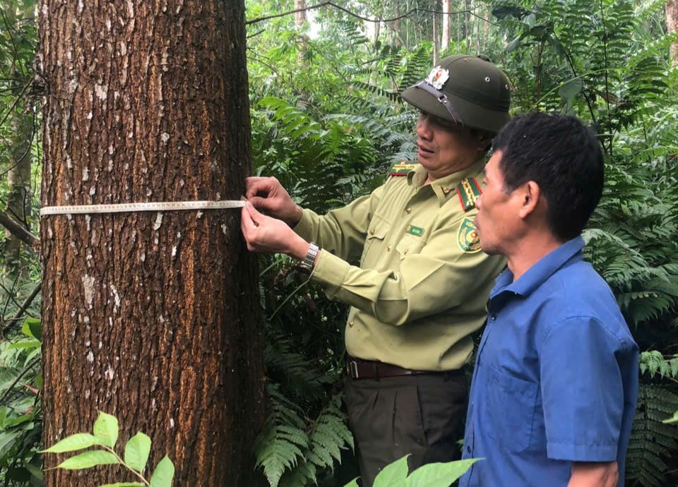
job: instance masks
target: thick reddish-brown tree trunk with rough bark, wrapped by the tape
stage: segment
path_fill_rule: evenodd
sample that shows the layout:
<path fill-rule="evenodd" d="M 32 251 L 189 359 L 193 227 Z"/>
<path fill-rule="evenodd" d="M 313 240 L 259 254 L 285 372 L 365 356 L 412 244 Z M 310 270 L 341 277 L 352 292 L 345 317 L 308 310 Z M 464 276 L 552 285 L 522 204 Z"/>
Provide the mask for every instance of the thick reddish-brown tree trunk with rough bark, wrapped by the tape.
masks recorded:
<path fill-rule="evenodd" d="M 242 0 L 42 0 L 42 205 L 237 199 L 250 169 Z M 256 485 L 256 261 L 238 210 L 43 217 L 44 443 L 97 410 L 175 487 Z M 44 467 L 59 459 L 47 455 Z M 86 485 L 121 478 L 97 469 Z M 46 470 L 44 485 L 85 485 Z"/>

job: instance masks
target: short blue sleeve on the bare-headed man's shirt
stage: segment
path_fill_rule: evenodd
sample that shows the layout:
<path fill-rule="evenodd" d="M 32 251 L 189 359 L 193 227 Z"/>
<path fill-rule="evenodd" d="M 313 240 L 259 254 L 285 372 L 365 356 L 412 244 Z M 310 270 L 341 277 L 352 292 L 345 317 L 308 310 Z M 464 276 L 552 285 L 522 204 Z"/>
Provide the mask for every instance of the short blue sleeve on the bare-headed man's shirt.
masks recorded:
<path fill-rule="evenodd" d="M 550 459 L 617 459 L 624 386 L 619 338 L 595 318 L 569 318 L 547 331 L 540 350 L 541 392 Z"/>

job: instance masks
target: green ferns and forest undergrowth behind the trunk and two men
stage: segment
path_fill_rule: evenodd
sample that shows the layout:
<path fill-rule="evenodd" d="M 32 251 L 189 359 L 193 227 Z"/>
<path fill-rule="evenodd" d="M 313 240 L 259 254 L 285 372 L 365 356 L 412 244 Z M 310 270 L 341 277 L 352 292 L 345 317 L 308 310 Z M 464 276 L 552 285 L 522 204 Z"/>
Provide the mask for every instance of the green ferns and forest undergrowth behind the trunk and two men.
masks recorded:
<path fill-rule="evenodd" d="M 407 8 L 405 8 L 405 3 Z M 40 85 L 35 2 L 0 16 L 0 204 L 37 234 Z M 629 486 L 678 484 L 678 70 L 665 1 L 453 1 L 444 48 L 432 0 L 347 1 L 295 25 L 291 0 L 248 0 L 249 97 L 256 174 L 275 176 L 316 212 L 350 202 L 415 158 L 417 113 L 399 93 L 434 52 L 485 54 L 511 80 L 511 113 L 573 114 L 599 134 L 605 194 L 585 257 L 612 287 L 641 348 Z M 413 10 L 412 10 L 413 9 Z M 37 76 L 39 78 L 39 76 Z M 18 183 L 10 170 L 28 160 Z M 25 211 L 17 215 L 16 201 Z M 13 209 L 14 208 L 14 209 Z M 0 486 L 40 486 L 40 265 L 30 245 L 0 248 Z M 30 239 L 29 239 L 30 240 Z M 271 487 L 343 486 L 355 476 L 341 406 L 347 308 L 284 255 L 261 257 L 269 413 L 255 445 Z"/>

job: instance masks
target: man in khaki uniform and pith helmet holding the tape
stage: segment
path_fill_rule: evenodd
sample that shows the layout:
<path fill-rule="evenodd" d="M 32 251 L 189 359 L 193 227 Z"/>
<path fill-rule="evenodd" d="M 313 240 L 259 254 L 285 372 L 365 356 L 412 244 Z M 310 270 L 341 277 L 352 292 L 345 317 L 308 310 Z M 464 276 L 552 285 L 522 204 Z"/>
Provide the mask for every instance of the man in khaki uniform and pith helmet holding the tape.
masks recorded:
<path fill-rule="evenodd" d="M 509 120 L 506 76 L 486 58 L 450 56 L 403 99 L 421 111 L 419 164 L 396 164 L 383 186 L 324 216 L 276 179 L 248 178 L 242 212 L 250 250 L 302 260 L 351 306 L 345 399 L 363 487 L 403 455 L 410 469 L 458 457 L 460 369 L 504 267 L 480 250 L 473 218 L 484 154 Z"/>

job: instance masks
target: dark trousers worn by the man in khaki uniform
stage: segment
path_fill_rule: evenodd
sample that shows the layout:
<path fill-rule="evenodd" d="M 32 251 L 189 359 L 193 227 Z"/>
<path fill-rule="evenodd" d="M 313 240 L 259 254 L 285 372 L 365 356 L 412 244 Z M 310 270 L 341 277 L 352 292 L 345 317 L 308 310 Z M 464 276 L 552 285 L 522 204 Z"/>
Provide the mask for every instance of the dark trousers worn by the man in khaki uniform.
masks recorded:
<path fill-rule="evenodd" d="M 380 379 L 346 378 L 348 423 L 355 438 L 362 487 L 410 454 L 410 472 L 461 456 L 466 378 L 458 371 Z"/>

